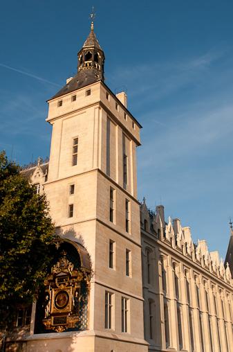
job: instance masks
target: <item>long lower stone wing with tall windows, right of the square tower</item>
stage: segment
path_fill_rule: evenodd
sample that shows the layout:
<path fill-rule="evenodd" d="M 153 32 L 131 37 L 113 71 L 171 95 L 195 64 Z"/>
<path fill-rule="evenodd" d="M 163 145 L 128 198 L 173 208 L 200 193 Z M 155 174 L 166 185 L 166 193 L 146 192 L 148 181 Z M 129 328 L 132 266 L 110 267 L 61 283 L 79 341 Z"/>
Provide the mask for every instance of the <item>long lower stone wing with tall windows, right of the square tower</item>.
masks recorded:
<path fill-rule="evenodd" d="M 232 351 L 232 275 L 205 240 L 195 245 L 164 207 L 140 211 L 145 339 L 149 351 Z"/>

